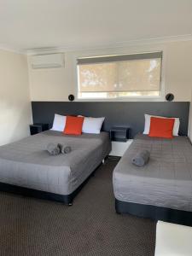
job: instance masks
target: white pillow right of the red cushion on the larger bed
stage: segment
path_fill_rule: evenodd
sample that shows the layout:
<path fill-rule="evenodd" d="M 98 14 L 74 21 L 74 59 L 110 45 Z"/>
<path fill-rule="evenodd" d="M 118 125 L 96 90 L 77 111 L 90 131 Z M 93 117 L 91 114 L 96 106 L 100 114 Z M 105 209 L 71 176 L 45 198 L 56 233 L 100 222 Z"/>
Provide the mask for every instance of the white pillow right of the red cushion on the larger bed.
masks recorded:
<path fill-rule="evenodd" d="M 84 117 L 84 124 L 82 127 L 82 131 L 84 133 L 99 134 L 102 129 L 102 123 L 104 119 L 105 119 L 104 117 L 102 118 Z"/>

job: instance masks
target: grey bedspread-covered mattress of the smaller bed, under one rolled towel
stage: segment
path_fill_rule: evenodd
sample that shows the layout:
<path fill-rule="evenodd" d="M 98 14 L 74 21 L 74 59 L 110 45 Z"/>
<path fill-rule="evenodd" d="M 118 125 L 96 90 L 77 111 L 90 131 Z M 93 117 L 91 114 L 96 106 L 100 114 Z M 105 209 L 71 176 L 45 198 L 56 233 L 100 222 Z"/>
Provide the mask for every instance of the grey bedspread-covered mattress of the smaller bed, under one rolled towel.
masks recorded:
<path fill-rule="evenodd" d="M 131 164 L 148 149 L 146 166 Z M 138 135 L 113 171 L 113 192 L 119 201 L 192 212 L 192 145 L 188 137 L 172 140 Z"/>

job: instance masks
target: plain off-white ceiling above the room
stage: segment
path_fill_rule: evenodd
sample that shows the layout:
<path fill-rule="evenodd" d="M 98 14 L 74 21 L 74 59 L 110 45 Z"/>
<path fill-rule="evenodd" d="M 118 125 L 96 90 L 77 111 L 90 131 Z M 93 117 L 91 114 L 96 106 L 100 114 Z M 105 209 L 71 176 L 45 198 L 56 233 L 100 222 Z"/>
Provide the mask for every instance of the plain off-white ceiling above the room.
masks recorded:
<path fill-rule="evenodd" d="M 192 0 L 0 0 L 0 46 L 92 48 L 192 35 Z"/>

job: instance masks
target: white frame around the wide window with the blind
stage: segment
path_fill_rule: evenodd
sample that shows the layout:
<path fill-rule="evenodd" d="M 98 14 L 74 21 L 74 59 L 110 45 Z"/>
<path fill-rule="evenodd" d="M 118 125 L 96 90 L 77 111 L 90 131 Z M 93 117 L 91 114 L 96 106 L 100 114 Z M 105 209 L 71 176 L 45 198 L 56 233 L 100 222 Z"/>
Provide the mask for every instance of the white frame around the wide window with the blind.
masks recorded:
<path fill-rule="evenodd" d="M 148 54 L 154 52 L 162 52 L 162 59 L 161 59 L 161 72 L 160 72 L 160 95 L 159 96 L 118 96 L 116 98 L 82 98 L 79 97 L 79 68 L 77 65 L 77 61 L 80 58 L 84 57 L 93 57 L 93 56 L 100 56 L 100 55 L 137 55 L 137 54 Z M 84 53 L 79 53 L 73 55 L 73 65 L 74 65 L 74 79 L 75 79 L 75 100 L 76 102 L 164 102 L 165 101 L 165 67 L 166 67 L 166 49 L 165 47 L 160 48 L 151 48 L 145 50 L 118 50 L 118 51 L 108 51 L 106 49 L 102 50 L 95 50 L 95 51 L 88 51 Z"/>

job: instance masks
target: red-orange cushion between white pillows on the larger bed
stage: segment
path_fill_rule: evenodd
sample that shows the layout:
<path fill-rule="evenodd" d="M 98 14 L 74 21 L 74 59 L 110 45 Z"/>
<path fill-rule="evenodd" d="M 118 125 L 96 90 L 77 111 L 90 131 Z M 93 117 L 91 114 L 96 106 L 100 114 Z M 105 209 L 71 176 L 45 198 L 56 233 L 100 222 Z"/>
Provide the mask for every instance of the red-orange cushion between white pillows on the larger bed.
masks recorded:
<path fill-rule="evenodd" d="M 67 115 L 64 134 L 81 135 L 84 117 Z"/>

